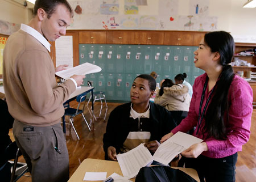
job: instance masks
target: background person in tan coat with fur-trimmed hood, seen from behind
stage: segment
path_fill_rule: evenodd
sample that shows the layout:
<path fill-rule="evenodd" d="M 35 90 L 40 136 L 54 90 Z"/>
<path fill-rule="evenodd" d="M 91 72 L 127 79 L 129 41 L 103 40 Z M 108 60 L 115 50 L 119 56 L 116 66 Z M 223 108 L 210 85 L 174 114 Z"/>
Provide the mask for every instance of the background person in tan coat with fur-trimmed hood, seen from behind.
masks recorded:
<path fill-rule="evenodd" d="M 187 117 L 191 96 L 188 87 L 183 84 L 174 84 L 171 79 L 161 81 L 159 92 L 155 96 L 155 103 L 171 111 L 177 125 Z"/>

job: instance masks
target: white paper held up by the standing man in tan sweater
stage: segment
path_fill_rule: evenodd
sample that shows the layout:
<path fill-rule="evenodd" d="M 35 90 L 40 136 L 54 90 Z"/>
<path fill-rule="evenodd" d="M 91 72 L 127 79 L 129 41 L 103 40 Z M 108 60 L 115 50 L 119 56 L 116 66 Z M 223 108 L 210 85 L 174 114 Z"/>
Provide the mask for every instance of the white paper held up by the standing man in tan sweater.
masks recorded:
<path fill-rule="evenodd" d="M 90 73 L 98 73 L 101 71 L 101 67 L 97 65 L 85 62 L 82 65 L 71 67 L 67 70 L 58 71 L 55 74 L 61 78 L 69 79 L 72 75 L 86 75 Z"/>

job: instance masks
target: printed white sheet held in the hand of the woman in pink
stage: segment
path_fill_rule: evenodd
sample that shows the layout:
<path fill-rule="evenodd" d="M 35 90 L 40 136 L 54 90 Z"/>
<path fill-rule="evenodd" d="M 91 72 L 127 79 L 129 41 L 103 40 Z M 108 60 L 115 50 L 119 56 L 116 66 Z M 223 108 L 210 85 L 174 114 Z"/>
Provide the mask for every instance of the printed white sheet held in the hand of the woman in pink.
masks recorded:
<path fill-rule="evenodd" d="M 158 147 L 153 155 L 153 160 L 167 165 L 177 154 L 202 141 L 203 139 L 196 138 L 190 134 L 177 132 Z"/>

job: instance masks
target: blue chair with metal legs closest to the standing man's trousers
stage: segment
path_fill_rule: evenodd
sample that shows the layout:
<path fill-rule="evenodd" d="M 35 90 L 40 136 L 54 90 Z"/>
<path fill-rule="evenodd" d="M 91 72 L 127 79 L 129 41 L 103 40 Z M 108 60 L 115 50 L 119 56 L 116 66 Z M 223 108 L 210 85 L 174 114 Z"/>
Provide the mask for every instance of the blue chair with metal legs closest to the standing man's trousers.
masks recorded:
<path fill-rule="evenodd" d="M 70 123 L 71 123 L 71 125 L 72 125 L 72 128 L 75 130 L 75 133 L 76 133 L 77 138 L 80 139 L 80 138 L 79 138 L 79 135 L 78 135 L 77 132 L 76 132 L 75 126 L 74 126 L 73 117 L 75 117 L 75 116 L 81 114 L 82 117 L 84 118 L 84 121 L 85 121 L 86 125 L 87 125 L 88 128 L 89 128 L 89 131 L 90 131 L 90 126 L 89 126 L 88 122 L 86 121 L 86 119 L 85 119 L 85 117 L 84 117 L 84 107 L 85 107 L 85 101 L 86 101 L 86 93 L 82 93 L 82 94 L 78 95 L 78 96 L 76 97 L 76 101 L 79 103 L 79 104 L 77 105 L 77 108 L 71 108 L 71 107 L 69 107 L 69 103 L 68 103 L 67 105 L 65 105 L 65 114 L 64 114 L 64 117 L 65 117 L 65 115 L 69 116 L 69 121 L 70 121 Z M 79 107 L 80 107 L 81 104 L 84 104 L 84 105 L 83 105 L 82 109 L 79 109 Z"/>

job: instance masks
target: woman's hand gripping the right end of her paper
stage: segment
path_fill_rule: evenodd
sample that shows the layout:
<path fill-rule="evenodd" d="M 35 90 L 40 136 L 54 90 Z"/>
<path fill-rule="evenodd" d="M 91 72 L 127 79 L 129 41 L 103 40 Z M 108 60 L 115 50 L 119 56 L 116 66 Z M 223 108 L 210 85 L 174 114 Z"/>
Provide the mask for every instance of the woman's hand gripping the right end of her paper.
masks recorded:
<path fill-rule="evenodd" d="M 207 151 L 208 146 L 207 143 L 196 143 L 189 147 L 187 150 L 184 150 L 181 155 L 185 156 L 186 158 L 197 158 L 203 151 Z"/>

